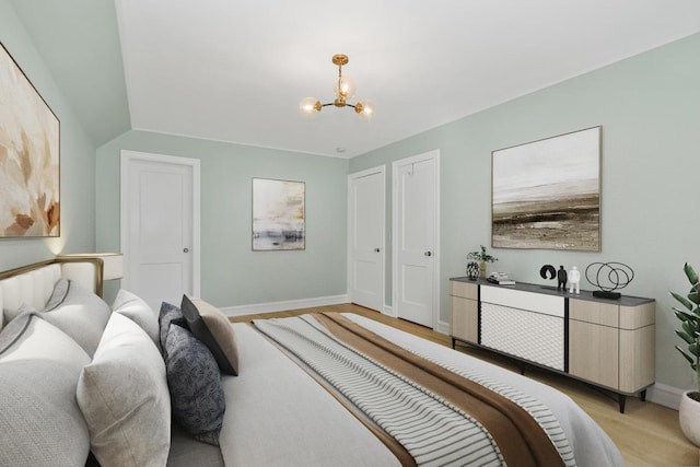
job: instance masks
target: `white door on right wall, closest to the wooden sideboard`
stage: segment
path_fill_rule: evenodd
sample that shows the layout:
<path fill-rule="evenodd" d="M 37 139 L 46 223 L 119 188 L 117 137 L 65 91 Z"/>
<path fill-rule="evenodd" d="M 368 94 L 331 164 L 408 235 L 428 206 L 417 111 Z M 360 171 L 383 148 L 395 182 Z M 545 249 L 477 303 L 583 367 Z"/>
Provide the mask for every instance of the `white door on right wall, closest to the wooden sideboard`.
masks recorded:
<path fill-rule="evenodd" d="M 439 295 L 440 153 L 393 164 L 394 303 L 396 315 L 434 328 Z"/>

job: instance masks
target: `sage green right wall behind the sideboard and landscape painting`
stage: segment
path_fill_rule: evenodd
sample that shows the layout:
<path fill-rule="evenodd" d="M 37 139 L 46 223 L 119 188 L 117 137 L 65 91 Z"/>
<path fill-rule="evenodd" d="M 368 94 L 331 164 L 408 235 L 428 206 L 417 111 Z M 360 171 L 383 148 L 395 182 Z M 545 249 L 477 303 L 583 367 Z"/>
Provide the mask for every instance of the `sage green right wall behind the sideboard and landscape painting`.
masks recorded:
<path fill-rule="evenodd" d="M 698 57 L 695 35 L 351 160 L 351 173 L 387 165 L 390 240 L 392 161 L 440 150 L 442 320 L 448 320 L 448 278 L 464 276 L 467 252 L 491 244 L 491 151 L 602 125 L 602 252 L 498 248 L 494 268 L 541 283 L 544 264 L 630 265 L 635 277 L 625 293 L 657 301 L 657 381 L 692 387 L 674 349 L 668 290 L 689 289 L 685 261 L 700 268 Z"/>

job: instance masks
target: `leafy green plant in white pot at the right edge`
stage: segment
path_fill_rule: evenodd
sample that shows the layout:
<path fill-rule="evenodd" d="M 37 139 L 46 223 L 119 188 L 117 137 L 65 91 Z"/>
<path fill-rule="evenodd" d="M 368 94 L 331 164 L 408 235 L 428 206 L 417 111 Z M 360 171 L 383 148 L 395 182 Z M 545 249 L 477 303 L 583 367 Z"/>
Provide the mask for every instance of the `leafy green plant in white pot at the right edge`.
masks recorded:
<path fill-rule="evenodd" d="M 680 329 L 676 329 L 676 336 L 685 342 L 685 349 L 676 346 L 680 354 L 690 363 L 696 372 L 696 389 L 686 390 L 680 396 L 678 420 L 680 429 L 688 440 L 696 446 L 700 446 L 700 290 L 698 287 L 698 273 L 687 262 L 684 271 L 690 282 L 690 291 L 686 296 L 676 292 L 669 292 L 682 307 L 673 307 L 674 315 L 680 320 Z"/>

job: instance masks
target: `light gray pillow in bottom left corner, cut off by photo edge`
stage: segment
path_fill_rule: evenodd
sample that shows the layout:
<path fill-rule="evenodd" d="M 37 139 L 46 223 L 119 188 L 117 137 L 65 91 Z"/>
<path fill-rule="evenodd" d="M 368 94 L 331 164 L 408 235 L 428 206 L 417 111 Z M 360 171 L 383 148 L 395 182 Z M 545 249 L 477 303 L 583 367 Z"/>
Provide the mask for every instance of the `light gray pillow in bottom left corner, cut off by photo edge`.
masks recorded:
<path fill-rule="evenodd" d="M 75 401 L 90 357 L 57 327 L 25 313 L 0 332 L 0 465 L 83 466 L 88 425 Z"/>

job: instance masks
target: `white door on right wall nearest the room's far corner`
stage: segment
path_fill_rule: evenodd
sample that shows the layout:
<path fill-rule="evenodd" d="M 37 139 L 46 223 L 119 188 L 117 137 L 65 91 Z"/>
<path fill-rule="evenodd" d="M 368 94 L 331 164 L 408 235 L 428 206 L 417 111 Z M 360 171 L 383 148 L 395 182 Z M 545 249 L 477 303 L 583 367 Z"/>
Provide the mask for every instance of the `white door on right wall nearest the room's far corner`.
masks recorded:
<path fill-rule="evenodd" d="M 348 176 L 350 301 L 384 308 L 384 166 Z"/>

